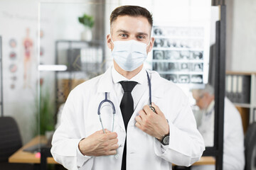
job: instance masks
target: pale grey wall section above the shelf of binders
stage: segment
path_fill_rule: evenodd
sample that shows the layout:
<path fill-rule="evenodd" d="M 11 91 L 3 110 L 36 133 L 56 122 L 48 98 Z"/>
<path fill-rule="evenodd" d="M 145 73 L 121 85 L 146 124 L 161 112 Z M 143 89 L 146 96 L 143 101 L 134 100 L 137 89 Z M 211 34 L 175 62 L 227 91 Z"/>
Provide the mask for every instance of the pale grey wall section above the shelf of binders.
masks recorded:
<path fill-rule="evenodd" d="M 227 69 L 256 72 L 256 1 L 227 0 Z M 230 29 L 231 28 L 231 29 Z"/>

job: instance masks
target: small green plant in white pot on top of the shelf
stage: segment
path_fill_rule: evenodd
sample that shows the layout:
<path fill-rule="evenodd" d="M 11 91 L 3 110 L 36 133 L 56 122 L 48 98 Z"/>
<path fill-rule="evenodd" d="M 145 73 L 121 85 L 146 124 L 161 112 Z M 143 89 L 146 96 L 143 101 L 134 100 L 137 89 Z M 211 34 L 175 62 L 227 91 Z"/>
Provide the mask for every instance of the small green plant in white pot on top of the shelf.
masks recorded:
<path fill-rule="evenodd" d="M 78 21 L 85 26 L 85 30 L 81 34 L 82 40 L 90 41 L 92 40 L 92 27 L 94 26 L 94 18 L 87 14 L 83 14 L 83 16 L 78 17 Z"/>

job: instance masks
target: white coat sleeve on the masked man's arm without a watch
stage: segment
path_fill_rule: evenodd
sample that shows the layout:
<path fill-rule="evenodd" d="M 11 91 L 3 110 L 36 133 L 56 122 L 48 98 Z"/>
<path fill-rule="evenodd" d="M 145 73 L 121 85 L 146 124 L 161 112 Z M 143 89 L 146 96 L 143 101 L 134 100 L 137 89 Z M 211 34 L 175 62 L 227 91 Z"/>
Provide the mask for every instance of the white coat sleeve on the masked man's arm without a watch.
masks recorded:
<path fill-rule="evenodd" d="M 50 150 L 56 162 L 62 164 L 66 169 L 79 169 L 88 162 L 90 157 L 81 154 L 78 143 L 82 139 L 78 110 L 75 108 L 74 91 L 70 92 L 63 108 L 60 126 L 55 130 Z"/>

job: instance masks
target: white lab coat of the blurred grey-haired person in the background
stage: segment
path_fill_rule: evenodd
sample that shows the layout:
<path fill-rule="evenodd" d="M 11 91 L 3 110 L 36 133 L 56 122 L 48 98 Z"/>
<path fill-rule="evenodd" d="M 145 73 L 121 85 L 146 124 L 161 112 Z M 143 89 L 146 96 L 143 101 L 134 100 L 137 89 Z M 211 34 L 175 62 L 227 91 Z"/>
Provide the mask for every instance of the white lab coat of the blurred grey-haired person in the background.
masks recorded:
<path fill-rule="evenodd" d="M 212 147 L 214 136 L 214 101 L 210 103 L 207 111 L 203 113 L 201 126 L 198 127 L 198 130 L 203 135 L 206 146 Z M 245 148 L 242 120 L 240 113 L 228 98 L 225 98 L 223 140 L 223 170 L 243 170 L 245 166 Z M 201 169 L 215 170 L 215 165 L 192 167 L 192 170 Z"/>

